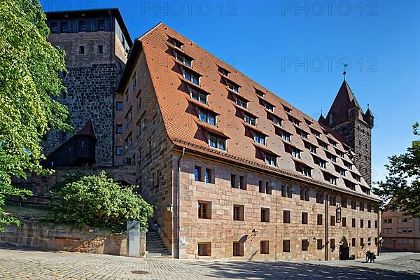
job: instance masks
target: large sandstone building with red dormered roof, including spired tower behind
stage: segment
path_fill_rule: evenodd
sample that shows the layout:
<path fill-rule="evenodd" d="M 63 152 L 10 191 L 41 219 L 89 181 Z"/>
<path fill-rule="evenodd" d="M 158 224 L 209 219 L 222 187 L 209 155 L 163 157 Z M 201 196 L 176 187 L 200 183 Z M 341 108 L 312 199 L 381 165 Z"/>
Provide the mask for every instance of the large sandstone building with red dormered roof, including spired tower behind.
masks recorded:
<path fill-rule="evenodd" d="M 116 108 L 115 162 L 137 167 L 152 229 L 175 258 L 332 260 L 376 248 L 373 116 L 346 81 L 318 122 L 160 23 L 134 41 Z"/>

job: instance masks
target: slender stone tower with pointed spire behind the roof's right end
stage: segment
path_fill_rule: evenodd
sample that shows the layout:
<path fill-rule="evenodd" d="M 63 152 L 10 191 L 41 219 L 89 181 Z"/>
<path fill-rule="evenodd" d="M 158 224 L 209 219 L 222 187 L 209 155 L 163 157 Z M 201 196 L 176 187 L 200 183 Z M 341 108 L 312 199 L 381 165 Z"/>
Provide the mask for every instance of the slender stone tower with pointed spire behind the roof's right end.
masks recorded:
<path fill-rule="evenodd" d="M 326 118 L 327 125 L 344 137 L 354 152 L 354 164 L 365 181 L 371 185 L 372 177 L 372 127 L 374 116 L 369 108 L 363 113 L 346 80 L 343 81 Z"/>

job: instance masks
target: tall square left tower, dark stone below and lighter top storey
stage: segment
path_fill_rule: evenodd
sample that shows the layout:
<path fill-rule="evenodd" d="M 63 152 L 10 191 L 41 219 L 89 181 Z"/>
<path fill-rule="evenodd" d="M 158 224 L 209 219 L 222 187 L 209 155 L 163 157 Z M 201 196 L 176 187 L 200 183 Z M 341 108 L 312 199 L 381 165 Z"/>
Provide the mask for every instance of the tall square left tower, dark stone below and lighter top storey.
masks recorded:
<path fill-rule="evenodd" d="M 67 10 L 46 15 L 51 31 L 48 41 L 66 51 L 67 72 L 62 74 L 62 78 L 67 92 L 57 99 L 68 106 L 74 132 L 89 123 L 97 141 L 93 159 L 72 161 L 71 153 L 83 147 L 68 148 L 66 142 L 74 135 L 51 131 L 43 143 L 44 153 L 47 158 L 50 157 L 45 162 L 51 165 L 54 162 L 55 167 L 85 164 L 111 166 L 114 153 L 114 92 L 132 47 L 132 39 L 120 10 Z M 66 160 L 51 159 L 53 154 L 66 153 L 69 155 Z"/>

